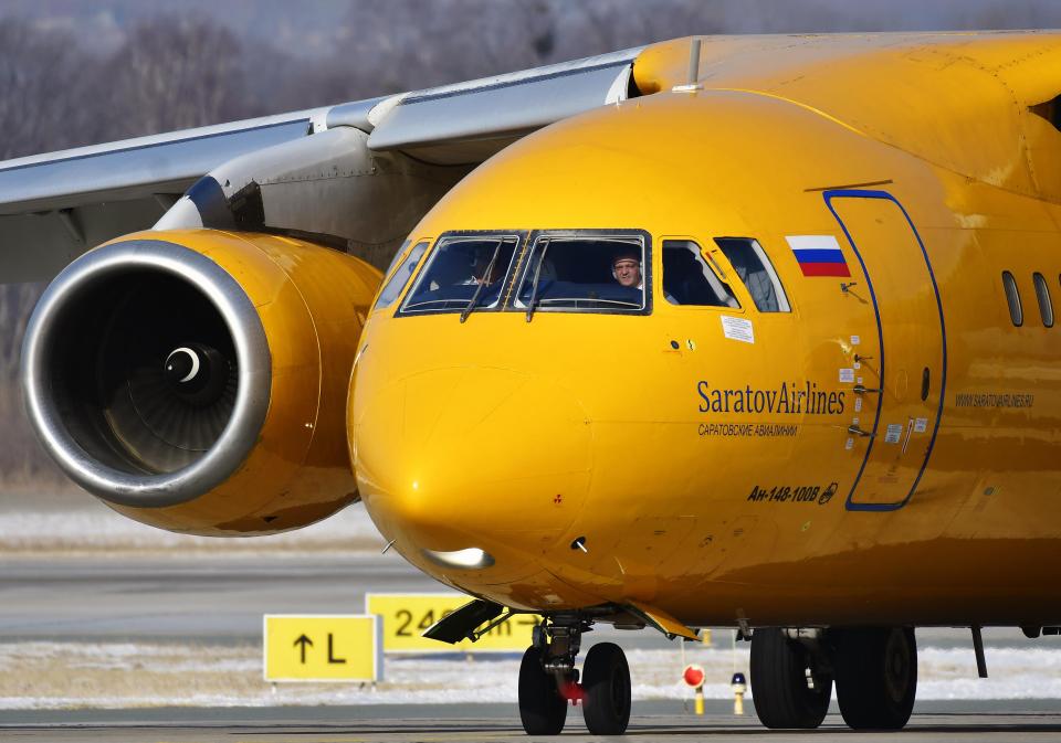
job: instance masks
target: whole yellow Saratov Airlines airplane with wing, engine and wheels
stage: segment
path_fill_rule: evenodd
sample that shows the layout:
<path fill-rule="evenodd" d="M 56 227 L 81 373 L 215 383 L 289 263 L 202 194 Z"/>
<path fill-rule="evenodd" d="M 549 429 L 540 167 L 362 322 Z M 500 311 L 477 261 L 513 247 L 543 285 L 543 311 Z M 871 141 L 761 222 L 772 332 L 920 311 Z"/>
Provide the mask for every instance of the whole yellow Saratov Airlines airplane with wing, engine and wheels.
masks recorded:
<path fill-rule="evenodd" d="M 836 686 L 900 729 L 914 627 L 986 675 L 981 626 L 1061 626 L 1059 71 L 1049 32 L 694 38 L 0 163 L 6 275 L 154 224 L 59 273 L 28 410 L 130 518 L 360 499 L 474 597 L 429 636 L 540 615 L 530 734 L 626 730 L 596 623 L 738 627 L 767 726 Z"/>

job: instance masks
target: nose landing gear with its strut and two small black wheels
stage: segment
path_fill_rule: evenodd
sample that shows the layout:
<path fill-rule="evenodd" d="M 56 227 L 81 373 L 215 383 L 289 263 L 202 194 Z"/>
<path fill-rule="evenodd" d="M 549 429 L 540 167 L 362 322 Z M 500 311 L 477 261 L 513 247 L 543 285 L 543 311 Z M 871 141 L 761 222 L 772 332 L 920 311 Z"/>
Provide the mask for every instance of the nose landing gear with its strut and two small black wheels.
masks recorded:
<path fill-rule="evenodd" d="M 535 628 L 534 645 L 519 665 L 519 719 L 529 735 L 558 735 L 567 703 L 581 701 L 591 735 L 621 735 L 630 722 L 630 668 L 622 648 L 600 643 L 590 648 L 582 683 L 575 669 L 581 635 L 591 624 L 554 617 Z"/>

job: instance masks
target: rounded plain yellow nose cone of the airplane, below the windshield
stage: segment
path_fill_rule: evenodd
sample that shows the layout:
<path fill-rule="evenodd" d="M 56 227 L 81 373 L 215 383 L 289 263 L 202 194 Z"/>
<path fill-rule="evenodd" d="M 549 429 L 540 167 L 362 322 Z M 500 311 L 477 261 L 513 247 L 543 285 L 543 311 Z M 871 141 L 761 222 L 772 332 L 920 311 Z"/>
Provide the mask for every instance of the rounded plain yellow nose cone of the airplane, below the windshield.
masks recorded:
<path fill-rule="evenodd" d="M 441 369 L 370 396 L 359 384 L 363 394 L 354 412 L 359 491 L 406 558 L 485 550 L 504 571 L 551 545 L 578 516 L 591 425 L 555 382 Z"/>

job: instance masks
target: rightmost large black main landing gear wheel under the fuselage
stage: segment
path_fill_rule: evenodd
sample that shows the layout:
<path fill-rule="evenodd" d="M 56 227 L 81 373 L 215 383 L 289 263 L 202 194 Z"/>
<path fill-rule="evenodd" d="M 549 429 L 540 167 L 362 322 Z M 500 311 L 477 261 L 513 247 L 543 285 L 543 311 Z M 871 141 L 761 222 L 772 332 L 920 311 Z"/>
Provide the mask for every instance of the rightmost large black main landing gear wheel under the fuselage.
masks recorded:
<path fill-rule="evenodd" d="M 855 730 L 900 730 L 917 693 L 917 643 L 910 627 L 836 630 L 837 701 Z"/>

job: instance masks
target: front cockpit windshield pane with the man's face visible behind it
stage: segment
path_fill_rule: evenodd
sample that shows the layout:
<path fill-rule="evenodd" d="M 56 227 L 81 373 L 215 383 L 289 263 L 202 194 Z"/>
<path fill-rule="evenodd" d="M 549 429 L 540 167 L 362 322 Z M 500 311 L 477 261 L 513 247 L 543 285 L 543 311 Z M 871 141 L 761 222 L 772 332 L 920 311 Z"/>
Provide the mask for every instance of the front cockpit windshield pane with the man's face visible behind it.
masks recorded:
<path fill-rule="evenodd" d="M 514 306 L 534 311 L 647 312 L 643 233 L 539 233 L 523 262 Z"/>

